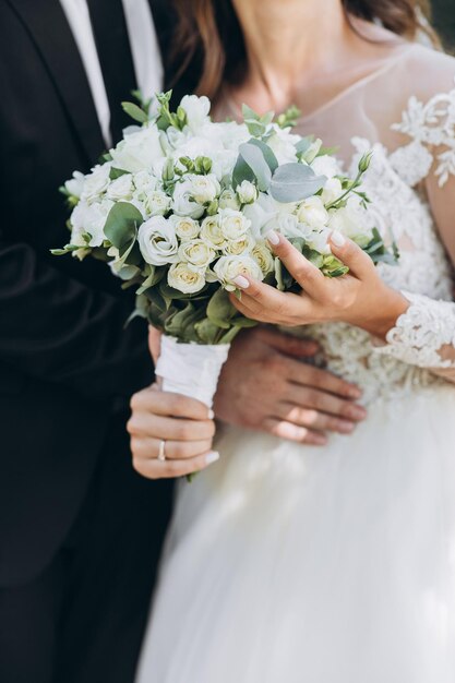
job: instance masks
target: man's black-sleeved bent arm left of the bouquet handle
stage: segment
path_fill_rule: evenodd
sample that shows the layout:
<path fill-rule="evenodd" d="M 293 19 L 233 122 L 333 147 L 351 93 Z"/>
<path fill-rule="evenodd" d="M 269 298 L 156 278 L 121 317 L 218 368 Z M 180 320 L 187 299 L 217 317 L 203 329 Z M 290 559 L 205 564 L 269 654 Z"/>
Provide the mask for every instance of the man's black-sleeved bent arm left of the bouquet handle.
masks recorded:
<path fill-rule="evenodd" d="M 0 360 L 92 398 L 131 395 L 153 368 L 130 299 L 72 279 L 28 244 L 0 241 Z"/>

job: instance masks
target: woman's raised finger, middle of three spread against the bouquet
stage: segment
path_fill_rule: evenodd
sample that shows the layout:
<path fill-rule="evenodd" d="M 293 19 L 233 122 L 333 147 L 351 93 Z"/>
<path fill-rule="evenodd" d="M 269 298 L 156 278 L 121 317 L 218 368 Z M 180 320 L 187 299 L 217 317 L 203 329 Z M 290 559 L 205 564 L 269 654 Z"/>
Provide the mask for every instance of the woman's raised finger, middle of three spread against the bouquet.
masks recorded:
<path fill-rule="evenodd" d="M 278 256 L 302 289 L 311 297 L 321 299 L 327 286 L 327 279 L 321 271 L 292 247 L 283 235 L 271 230 L 266 238 L 275 255 Z"/>

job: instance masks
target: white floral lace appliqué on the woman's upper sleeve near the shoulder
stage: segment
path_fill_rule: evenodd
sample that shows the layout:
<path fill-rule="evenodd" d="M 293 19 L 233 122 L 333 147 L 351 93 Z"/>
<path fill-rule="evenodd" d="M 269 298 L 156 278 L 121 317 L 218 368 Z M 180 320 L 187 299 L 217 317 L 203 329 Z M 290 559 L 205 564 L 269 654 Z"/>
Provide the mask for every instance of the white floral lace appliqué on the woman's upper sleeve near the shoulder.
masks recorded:
<path fill-rule="evenodd" d="M 409 151 L 411 157 L 406 159 L 408 168 L 412 168 L 412 157 L 414 160 L 418 159 L 421 177 L 417 179 L 416 169 L 411 178 L 412 184 L 422 180 L 430 170 L 428 151 L 426 151 L 427 154 L 421 152 L 426 149 L 424 145 L 443 147 L 443 151 L 435 157 L 438 160 L 435 173 L 439 177 L 440 187 L 442 188 L 447 182 L 451 175 L 455 176 L 455 89 L 435 95 L 427 104 L 412 96 L 407 110 L 403 113 L 402 121 L 394 123 L 392 130 L 405 133 L 415 141 L 414 145 L 411 143 L 407 147 L 402 147 L 396 156 L 399 167 L 404 166 L 405 151 Z"/>

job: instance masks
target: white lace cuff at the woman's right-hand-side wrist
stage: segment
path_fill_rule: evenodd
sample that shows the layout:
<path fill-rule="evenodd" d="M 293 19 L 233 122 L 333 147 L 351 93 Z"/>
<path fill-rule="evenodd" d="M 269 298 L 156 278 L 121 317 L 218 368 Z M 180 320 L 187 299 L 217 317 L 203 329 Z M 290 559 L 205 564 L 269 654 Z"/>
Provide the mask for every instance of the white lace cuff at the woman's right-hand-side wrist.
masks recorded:
<path fill-rule="evenodd" d="M 376 352 L 420 368 L 455 368 L 455 355 L 453 360 L 441 357 L 443 347 L 455 349 L 455 303 L 403 293 L 410 307 L 387 333 L 387 345 L 376 347 Z"/>

